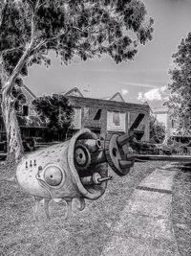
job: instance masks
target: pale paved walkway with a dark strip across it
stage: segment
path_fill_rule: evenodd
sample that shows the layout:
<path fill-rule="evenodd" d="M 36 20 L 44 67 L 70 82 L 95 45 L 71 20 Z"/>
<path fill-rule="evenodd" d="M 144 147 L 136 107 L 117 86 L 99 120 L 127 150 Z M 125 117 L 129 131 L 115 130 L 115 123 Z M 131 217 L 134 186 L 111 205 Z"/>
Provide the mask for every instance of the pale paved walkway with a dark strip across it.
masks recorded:
<path fill-rule="evenodd" d="M 121 212 L 102 256 L 180 255 L 171 222 L 173 177 L 168 165 L 146 177 Z"/>

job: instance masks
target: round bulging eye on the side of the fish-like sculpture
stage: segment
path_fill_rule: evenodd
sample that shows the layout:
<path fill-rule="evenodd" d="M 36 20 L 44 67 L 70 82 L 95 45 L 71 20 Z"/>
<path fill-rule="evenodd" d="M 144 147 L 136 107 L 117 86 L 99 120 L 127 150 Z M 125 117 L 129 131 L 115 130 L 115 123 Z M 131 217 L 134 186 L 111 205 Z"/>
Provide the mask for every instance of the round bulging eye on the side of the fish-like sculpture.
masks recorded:
<path fill-rule="evenodd" d="M 58 186 L 62 182 L 63 174 L 59 168 L 51 166 L 45 170 L 44 178 L 50 186 Z"/>

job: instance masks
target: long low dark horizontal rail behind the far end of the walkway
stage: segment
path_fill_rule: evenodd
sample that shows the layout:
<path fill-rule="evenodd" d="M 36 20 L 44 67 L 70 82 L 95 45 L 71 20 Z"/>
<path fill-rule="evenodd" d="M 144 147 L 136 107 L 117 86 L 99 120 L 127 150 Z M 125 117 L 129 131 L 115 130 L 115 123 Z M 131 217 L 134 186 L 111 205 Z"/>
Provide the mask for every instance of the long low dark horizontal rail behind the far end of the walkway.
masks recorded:
<path fill-rule="evenodd" d="M 146 161 L 169 161 L 169 162 L 190 162 L 191 155 L 153 155 L 153 154 L 127 154 L 127 160 L 146 160 Z"/>

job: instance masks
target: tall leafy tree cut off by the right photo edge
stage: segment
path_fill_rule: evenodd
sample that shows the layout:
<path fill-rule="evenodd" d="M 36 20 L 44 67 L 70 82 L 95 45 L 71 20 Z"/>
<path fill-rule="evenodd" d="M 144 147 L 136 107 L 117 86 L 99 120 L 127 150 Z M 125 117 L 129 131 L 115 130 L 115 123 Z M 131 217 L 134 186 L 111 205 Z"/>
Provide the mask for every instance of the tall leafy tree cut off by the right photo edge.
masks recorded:
<path fill-rule="evenodd" d="M 165 105 L 170 109 L 171 118 L 176 120 L 177 130 L 191 135 L 191 33 L 181 39 L 172 58 L 174 67 L 169 70 L 171 82 L 168 84 L 170 96 Z"/>

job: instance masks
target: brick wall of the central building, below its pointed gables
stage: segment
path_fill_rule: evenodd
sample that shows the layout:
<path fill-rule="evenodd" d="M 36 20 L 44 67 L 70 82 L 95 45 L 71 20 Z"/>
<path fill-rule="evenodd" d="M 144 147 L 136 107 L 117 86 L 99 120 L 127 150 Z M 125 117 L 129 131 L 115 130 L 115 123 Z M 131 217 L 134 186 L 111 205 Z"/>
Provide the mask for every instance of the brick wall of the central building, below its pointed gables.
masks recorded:
<path fill-rule="evenodd" d="M 68 97 L 75 108 L 81 109 L 81 119 L 78 118 L 78 127 L 74 128 L 78 129 L 80 122 L 81 128 L 90 128 L 100 133 L 101 136 L 104 136 L 109 131 L 127 132 L 138 116 L 138 113 L 143 113 L 145 117 L 138 130 L 144 131 L 142 140 L 149 140 L 150 107 L 148 105 L 119 103 L 73 96 Z M 115 121 L 117 115 L 119 116 L 119 124 Z"/>

